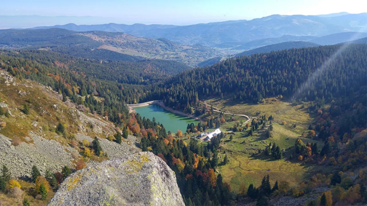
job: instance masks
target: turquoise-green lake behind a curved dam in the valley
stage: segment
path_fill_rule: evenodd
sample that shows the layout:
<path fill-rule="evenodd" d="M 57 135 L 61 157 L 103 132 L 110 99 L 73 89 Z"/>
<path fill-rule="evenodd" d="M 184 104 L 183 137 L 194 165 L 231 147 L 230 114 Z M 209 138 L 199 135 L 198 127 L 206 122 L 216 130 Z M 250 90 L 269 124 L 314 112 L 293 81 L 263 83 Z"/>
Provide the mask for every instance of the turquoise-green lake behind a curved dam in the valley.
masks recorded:
<path fill-rule="evenodd" d="M 136 110 L 141 117 L 150 119 L 150 121 L 152 121 L 153 117 L 155 117 L 156 122 L 163 124 L 167 132 L 171 131 L 172 133 L 176 133 L 179 129 L 185 133 L 187 124 L 191 124 L 191 122 L 193 122 L 195 125 L 197 125 L 199 123 L 199 121 L 193 118 L 167 111 L 157 104 L 152 104 L 145 107 L 135 107 L 134 110 Z"/>

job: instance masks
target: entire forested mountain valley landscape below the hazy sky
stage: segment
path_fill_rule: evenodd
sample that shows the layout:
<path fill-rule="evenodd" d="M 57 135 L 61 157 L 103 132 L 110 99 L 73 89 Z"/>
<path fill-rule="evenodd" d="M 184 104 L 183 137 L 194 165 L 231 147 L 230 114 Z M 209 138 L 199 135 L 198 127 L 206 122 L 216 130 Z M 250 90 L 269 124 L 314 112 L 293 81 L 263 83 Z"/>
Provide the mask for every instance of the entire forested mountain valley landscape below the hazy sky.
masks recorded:
<path fill-rule="evenodd" d="M 0 30 L 0 205 L 363 205 L 365 15 Z"/>

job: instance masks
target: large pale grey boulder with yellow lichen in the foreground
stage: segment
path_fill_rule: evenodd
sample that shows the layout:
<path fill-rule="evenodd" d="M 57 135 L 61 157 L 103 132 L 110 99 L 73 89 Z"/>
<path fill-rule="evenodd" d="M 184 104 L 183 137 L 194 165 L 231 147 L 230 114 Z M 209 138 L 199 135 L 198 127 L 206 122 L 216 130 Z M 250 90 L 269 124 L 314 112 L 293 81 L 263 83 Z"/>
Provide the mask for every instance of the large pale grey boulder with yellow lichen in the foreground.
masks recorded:
<path fill-rule="evenodd" d="M 174 172 L 152 152 L 104 161 L 70 175 L 54 205 L 184 205 Z"/>

